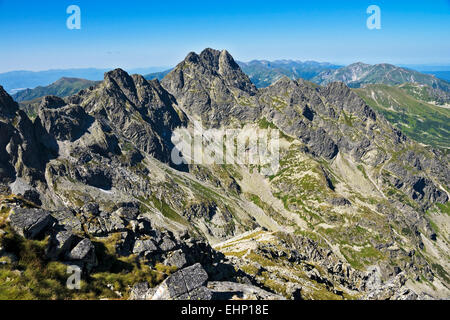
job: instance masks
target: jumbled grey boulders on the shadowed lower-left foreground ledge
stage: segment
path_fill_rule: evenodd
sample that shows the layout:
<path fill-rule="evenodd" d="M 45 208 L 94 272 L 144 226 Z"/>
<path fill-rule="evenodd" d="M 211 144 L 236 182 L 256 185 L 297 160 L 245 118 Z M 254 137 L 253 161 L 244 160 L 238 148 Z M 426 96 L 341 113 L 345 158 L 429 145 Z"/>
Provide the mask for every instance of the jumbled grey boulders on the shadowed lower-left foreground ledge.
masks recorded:
<path fill-rule="evenodd" d="M 77 266 L 82 270 L 83 277 L 95 274 L 96 269 L 104 265 L 105 261 L 99 257 L 98 249 L 94 245 L 101 237 L 83 232 L 89 230 L 93 220 L 105 221 L 95 208 L 88 207 L 81 216 L 76 216 L 70 210 L 49 212 L 27 208 L 28 204 L 15 199 L 8 205 L 2 205 L 3 212 L 7 209 L 9 211 L 6 223 L 10 227 L 8 231 L 2 231 L 2 237 L 10 233 L 29 241 L 46 239 L 45 256 L 41 259 Z M 130 218 L 132 211 L 122 207 L 113 217 L 106 219 L 110 224 L 100 226 L 100 229 L 104 228 L 102 230 L 105 234 L 115 235 L 116 252 L 150 266 L 162 264 L 178 271 L 158 286 L 151 287 L 148 282 L 136 283 L 129 288 L 129 299 L 284 299 L 280 295 L 253 286 L 248 275 L 239 275 L 226 261 L 225 256 L 211 248 L 208 243 L 193 239 L 188 234 L 174 235 L 170 231 L 153 229 L 146 219 Z M 111 221 L 116 224 L 111 224 Z M 18 260 L 14 253 L 8 252 L 7 247 L 0 247 L 0 258 L 2 265 L 14 265 Z M 205 269 L 209 270 L 209 273 Z M 218 279 L 233 279 L 244 283 L 210 281 Z M 122 293 L 116 293 L 118 298 L 123 297 Z"/>

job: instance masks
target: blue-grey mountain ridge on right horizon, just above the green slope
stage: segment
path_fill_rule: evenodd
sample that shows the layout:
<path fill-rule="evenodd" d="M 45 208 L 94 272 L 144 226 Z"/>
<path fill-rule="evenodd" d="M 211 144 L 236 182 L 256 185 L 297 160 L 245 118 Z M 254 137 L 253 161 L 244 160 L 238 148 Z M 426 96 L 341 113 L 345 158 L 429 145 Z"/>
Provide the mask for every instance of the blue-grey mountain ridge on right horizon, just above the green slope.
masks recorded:
<path fill-rule="evenodd" d="M 360 62 L 354 63 L 338 70 L 324 71 L 314 77 L 312 81 L 322 85 L 342 81 L 352 88 L 359 88 L 365 84 L 399 85 L 410 82 L 450 92 L 450 83 L 444 80 L 390 64 L 369 65 Z"/>

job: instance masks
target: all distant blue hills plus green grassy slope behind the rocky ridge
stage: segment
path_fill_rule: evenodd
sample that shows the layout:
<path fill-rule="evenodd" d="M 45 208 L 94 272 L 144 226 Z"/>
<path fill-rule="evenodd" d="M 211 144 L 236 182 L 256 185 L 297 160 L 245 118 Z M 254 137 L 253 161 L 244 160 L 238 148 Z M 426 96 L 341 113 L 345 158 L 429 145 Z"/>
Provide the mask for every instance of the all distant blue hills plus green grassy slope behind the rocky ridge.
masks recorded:
<path fill-rule="evenodd" d="M 330 63 L 293 60 L 254 60 L 237 64 L 259 88 L 268 87 L 283 77 L 291 80 L 309 79 L 320 85 L 344 82 L 357 89 L 356 92 L 368 105 L 381 112 L 409 137 L 438 148 L 450 147 L 450 141 L 446 138 L 450 131 L 450 109 L 441 108 L 448 108 L 450 105 L 450 84 L 434 75 L 390 64 L 355 63 L 339 67 Z M 147 80 L 162 81 L 172 70 L 153 72 L 144 77 Z M 103 70 L 91 69 L 84 72 L 95 77 L 95 72 L 100 71 Z M 97 84 L 98 81 L 63 77 L 48 86 L 19 91 L 12 97 L 34 118 L 42 97 L 53 95 L 64 98 Z"/>

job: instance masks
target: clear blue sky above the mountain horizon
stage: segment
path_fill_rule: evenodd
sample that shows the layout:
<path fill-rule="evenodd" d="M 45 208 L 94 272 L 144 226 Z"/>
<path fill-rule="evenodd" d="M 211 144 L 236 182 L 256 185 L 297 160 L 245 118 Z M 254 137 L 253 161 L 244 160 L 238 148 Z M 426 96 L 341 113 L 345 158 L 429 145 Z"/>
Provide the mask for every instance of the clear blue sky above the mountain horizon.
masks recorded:
<path fill-rule="evenodd" d="M 69 5 L 81 30 L 66 27 Z M 369 5 L 381 30 L 369 30 Z M 0 72 L 172 66 L 190 51 L 238 60 L 450 65 L 450 0 L 0 0 Z"/>

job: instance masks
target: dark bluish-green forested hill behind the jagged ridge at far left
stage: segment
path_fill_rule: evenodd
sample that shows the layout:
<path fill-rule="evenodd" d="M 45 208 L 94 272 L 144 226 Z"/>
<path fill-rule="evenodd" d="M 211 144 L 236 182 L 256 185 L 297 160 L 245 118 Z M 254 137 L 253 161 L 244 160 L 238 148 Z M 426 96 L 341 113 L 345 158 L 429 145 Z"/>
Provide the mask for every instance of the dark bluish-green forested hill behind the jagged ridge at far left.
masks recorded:
<path fill-rule="evenodd" d="M 61 78 L 46 87 L 25 89 L 12 95 L 17 102 L 30 101 L 44 96 L 57 96 L 60 98 L 71 96 L 78 91 L 95 86 L 98 82 L 79 78 Z"/>

